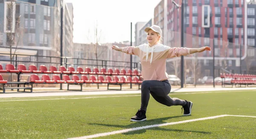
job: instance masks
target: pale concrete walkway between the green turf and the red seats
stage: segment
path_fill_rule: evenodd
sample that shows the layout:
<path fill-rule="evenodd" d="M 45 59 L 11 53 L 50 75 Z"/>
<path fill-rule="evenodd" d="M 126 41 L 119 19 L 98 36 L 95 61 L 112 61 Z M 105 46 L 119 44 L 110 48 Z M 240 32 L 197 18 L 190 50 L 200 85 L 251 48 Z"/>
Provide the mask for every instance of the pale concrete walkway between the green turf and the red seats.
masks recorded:
<path fill-rule="evenodd" d="M 50 88 L 44 88 L 44 90 L 48 90 Z M 136 94 L 140 93 L 138 89 L 124 89 L 120 90 L 84 90 L 80 91 L 67 91 L 67 90 L 52 90 L 52 91 L 44 91 L 43 92 L 35 92 L 35 93 L 1 93 L 0 98 L 16 98 L 16 97 L 40 97 L 40 96 L 79 96 L 79 95 L 108 95 L 108 94 Z M 256 90 L 256 87 L 190 87 L 190 88 L 172 88 L 171 92 L 204 92 L 204 91 L 227 91 L 227 90 Z"/>

